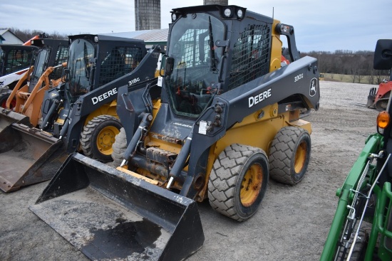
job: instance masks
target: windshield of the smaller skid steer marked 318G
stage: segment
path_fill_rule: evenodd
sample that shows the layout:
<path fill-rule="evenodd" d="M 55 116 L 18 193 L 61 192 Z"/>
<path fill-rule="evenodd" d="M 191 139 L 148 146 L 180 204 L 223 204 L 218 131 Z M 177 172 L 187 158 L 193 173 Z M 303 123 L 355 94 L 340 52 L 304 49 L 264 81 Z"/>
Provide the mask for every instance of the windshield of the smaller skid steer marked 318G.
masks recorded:
<path fill-rule="evenodd" d="M 69 91 L 73 100 L 90 90 L 91 63 L 94 56 L 94 46 L 84 39 L 71 43 L 69 48 Z"/>

